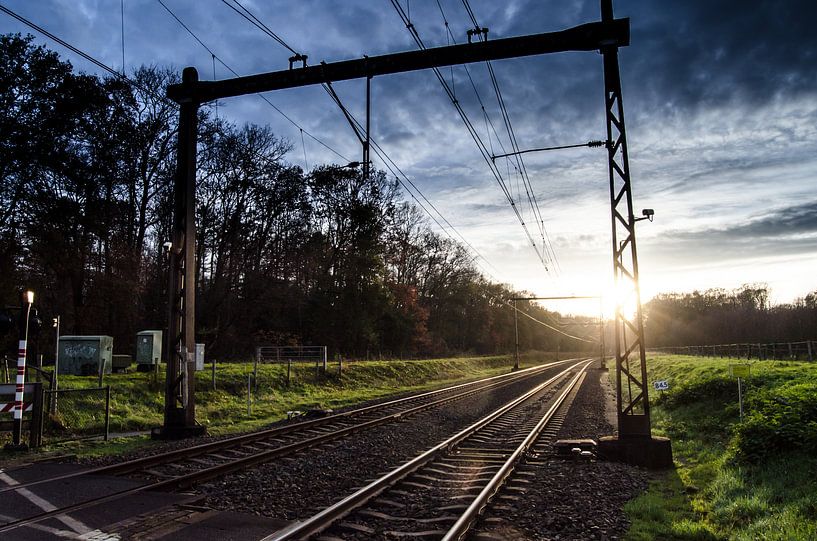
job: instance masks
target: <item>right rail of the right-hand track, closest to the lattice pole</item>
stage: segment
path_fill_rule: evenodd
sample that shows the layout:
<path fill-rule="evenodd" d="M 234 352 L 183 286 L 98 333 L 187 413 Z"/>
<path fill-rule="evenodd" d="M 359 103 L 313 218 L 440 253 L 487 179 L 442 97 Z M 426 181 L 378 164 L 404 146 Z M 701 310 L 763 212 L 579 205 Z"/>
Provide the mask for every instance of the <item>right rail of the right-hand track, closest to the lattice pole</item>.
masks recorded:
<path fill-rule="evenodd" d="M 485 488 L 477 495 L 471 505 L 463 512 L 457 522 L 451 527 L 451 529 L 446 532 L 445 536 L 442 538 L 442 541 L 460 541 L 465 537 L 468 533 L 468 530 L 471 528 L 471 525 L 474 521 L 479 517 L 482 513 L 483 509 L 490 503 L 491 499 L 496 495 L 497 492 L 502 488 L 508 478 L 513 475 L 516 466 L 519 464 L 519 461 L 527 456 L 528 450 L 533 445 L 533 443 L 539 438 L 539 435 L 544 430 L 545 426 L 550 422 L 553 418 L 553 415 L 556 411 L 562 406 L 562 403 L 567 399 L 567 396 L 573 391 L 573 388 L 576 384 L 581 380 L 581 378 L 585 375 L 585 370 L 590 363 L 584 365 L 584 367 L 579 371 L 578 374 L 568 383 L 567 388 L 562 392 L 556 400 L 554 400 L 553 404 L 550 406 L 548 411 L 545 415 L 539 420 L 533 430 L 530 431 L 528 436 L 525 440 L 516 448 L 516 450 L 508 457 L 508 460 L 499 471 L 494 474 L 493 478 L 485 485 Z"/>

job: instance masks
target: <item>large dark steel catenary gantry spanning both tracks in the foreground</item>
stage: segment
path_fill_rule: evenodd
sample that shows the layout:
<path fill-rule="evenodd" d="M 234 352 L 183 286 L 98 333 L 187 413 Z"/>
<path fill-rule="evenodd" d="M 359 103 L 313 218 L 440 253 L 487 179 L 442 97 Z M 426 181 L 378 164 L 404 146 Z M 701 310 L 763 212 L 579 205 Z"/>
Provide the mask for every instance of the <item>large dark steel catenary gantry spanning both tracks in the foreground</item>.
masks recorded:
<path fill-rule="evenodd" d="M 618 423 L 622 437 L 650 436 L 644 333 L 638 290 L 638 263 L 629 162 L 627 157 L 618 48 L 629 45 L 629 19 L 613 17 L 612 0 L 601 0 L 601 21 L 549 32 L 364 57 L 341 62 L 237 77 L 199 81 L 195 68 L 185 68 L 182 83 L 167 95 L 180 105 L 178 160 L 174 182 L 174 217 L 169 270 L 169 326 L 166 349 L 167 388 L 160 437 L 181 437 L 198 431 L 193 392 L 195 350 L 195 184 L 197 112 L 201 104 L 228 98 L 315 84 L 402 73 L 435 67 L 518 58 L 568 51 L 598 51 L 604 59 L 608 168 L 613 226 L 613 271 L 637 306 L 634 314 L 616 311 Z M 367 84 L 368 87 L 368 84 Z M 368 130 L 367 130 L 368 132 Z M 368 133 L 367 133 L 368 137 Z M 366 149 L 368 150 L 368 149 Z M 626 385 L 627 392 L 622 391 Z"/>

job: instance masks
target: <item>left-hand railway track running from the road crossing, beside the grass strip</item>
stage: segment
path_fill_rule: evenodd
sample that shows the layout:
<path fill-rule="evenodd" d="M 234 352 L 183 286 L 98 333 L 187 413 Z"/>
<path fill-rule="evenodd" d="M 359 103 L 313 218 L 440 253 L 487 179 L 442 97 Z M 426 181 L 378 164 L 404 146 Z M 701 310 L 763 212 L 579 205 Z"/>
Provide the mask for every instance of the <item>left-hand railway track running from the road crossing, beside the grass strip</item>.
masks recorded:
<path fill-rule="evenodd" d="M 231 471 L 244 470 L 256 464 L 320 446 L 355 432 L 394 422 L 481 392 L 511 385 L 527 378 L 541 377 L 543 372 L 558 369 L 559 366 L 567 362 L 570 361 L 549 363 L 508 375 L 495 376 L 429 391 L 322 418 L 296 422 L 269 430 L 235 436 L 109 466 L 4 487 L 0 489 L 0 493 L 29 489 L 47 483 L 70 482 L 73 478 L 84 475 L 128 476 L 144 482 L 143 485 L 135 488 L 91 498 L 68 507 L 7 522 L 0 525 L 0 534 L 50 517 L 125 498 L 128 495 L 145 490 L 178 490 L 186 488 L 225 475 Z"/>

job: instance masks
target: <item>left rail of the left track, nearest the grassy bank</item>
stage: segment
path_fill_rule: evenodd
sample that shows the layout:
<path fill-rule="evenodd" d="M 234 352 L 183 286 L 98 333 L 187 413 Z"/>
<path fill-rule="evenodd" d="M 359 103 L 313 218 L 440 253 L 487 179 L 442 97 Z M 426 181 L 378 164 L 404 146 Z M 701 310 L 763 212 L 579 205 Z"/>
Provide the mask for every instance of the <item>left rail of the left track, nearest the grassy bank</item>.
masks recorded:
<path fill-rule="evenodd" d="M 192 457 L 196 457 L 196 456 L 201 456 L 201 455 L 207 454 L 207 453 L 212 452 L 212 451 L 223 451 L 223 450 L 226 450 L 226 449 L 229 449 L 229 448 L 238 447 L 238 446 L 245 445 L 245 444 L 248 444 L 248 443 L 253 443 L 253 442 L 269 439 L 269 438 L 272 438 L 272 437 L 275 437 L 275 436 L 286 436 L 286 435 L 289 435 L 291 433 L 296 433 L 298 431 L 305 430 L 305 429 L 308 429 L 308 428 L 318 427 L 318 426 L 322 426 L 322 425 L 328 425 L 328 424 L 332 424 L 333 422 L 336 422 L 336 421 L 345 421 L 345 420 L 348 420 L 348 419 L 351 419 L 351 418 L 354 418 L 354 417 L 364 415 L 366 413 L 371 413 L 373 411 L 377 411 L 377 410 L 380 410 L 380 409 L 386 409 L 387 407 L 390 407 L 390 406 L 395 406 L 395 405 L 399 405 L 399 404 L 406 404 L 406 403 L 410 403 L 412 401 L 416 401 L 416 400 L 419 400 L 419 399 L 428 398 L 428 397 L 431 397 L 431 396 L 440 395 L 440 394 L 444 394 L 444 393 L 449 393 L 449 392 L 456 391 L 458 389 L 463 389 L 463 388 L 470 387 L 470 386 L 482 385 L 482 386 L 479 386 L 479 387 L 474 387 L 474 389 L 472 389 L 470 391 L 460 393 L 460 394 L 456 394 L 456 395 L 453 395 L 451 397 L 447 397 L 446 399 L 437 400 L 437 401 L 431 402 L 429 404 L 426 404 L 429 407 L 433 407 L 433 406 L 439 405 L 441 403 L 444 403 L 446 400 L 456 400 L 456 399 L 459 399 L 459 398 L 464 398 L 466 396 L 470 396 L 470 394 L 473 394 L 473 392 L 479 392 L 479 391 L 487 390 L 487 389 L 494 388 L 494 387 L 496 387 L 498 385 L 502 385 L 502 384 L 506 384 L 506 383 L 513 383 L 513 382 L 515 382 L 517 380 L 524 379 L 525 377 L 536 374 L 537 372 L 544 371 L 544 370 L 547 370 L 548 368 L 551 368 L 553 366 L 556 366 L 556 365 L 559 365 L 559 364 L 564 364 L 564 363 L 567 363 L 567 362 L 571 362 L 571 360 L 568 359 L 568 360 L 565 360 L 565 361 L 555 361 L 555 362 L 552 362 L 552 363 L 548 363 L 548 364 L 544 364 L 544 365 L 540 365 L 540 366 L 533 366 L 533 367 L 530 367 L 530 368 L 526 368 L 524 370 L 519 370 L 519 371 L 514 372 L 512 374 L 501 374 L 501 375 L 498 375 L 498 376 L 492 376 L 490 378 L 484 378 L 484 379 L 481 379 L 481 380 L 470 381 L 470 382 L 467 382 L 467 383 L 460 383 L 460 384 L 457 384 L 457 385 L 453 385 L 451 387 L 445 387 L 445 388 L 442 388 L 442 389 L 435 389 L 433 391 L 426 391 L 424 393 L 411 395 L 411 396 L 407 396 L 407 397 L 403 397 L 403 398 L 398 398 L 398 399 L 390 400 L 390 401 L 387 401 L 387 402 L 381 402 L 379 404 L 372 404 L 370 406 L 365 406 L 363 408 L 358 408 L 358 409 L 349 410 L 349 411 L 345 411 L 345 412 L 341 412 L 341 413 L 336 413 L 334 415 L 321 417 L 319 419 L 312 419 L 312 420 L 309 420 L 309 421 L 302 421 L 302 422 L 298 422 L 298 423 L 294 423 L 294 424 L 289 424 L 289 425 L 285 425 L 285 426 L 271 428 L 271 429 L 268 429 L 268 430 L 262 430 L 262 431 L 259 431 L 259 432 L 252 432 L 250 434 L 242 434 L 240 436 L 234 436 L 232 438 L 227 438 L 227 439 L 223 439 L 223 440 L 219 440 L 219 441 L 215 441 L 215 442 L 203 443 L 203 444 L 200 444 L 200 445 L 194 445 L 192 447 L 186 447 L 186 448 L 183 448 L 183 449 L 176 449 L 176 450 L 173 450 L 173 451 L 168 451 L 166 453 L 161 453 L 161 454 L 157 454 L 157 455 L 151 455 L 151 456 L 147 456 L 147 457 L 136 458 L 136 459 L 129 460 L 129 461 L 126 461 L 126 462 L 111 464 L 111 465 L 108 465 L 108 466 L 100 466 L 100 467 L 97 467 L 97 468 L 91 468 L 91 469 L 87 469 L 87 470 L 81 470 L 81 471 L 66 473 L 66 474 L 62 474 L 62 475 L 57 475 L 57 476 L 49 477 L 49 478 L 46 478 L 46 479 L 37 479 L 37 480 L 29 481 L 29 482 L 26 482 L 26 483 L 20 483 L 18 485 L 11 485 L 11 486 L 0 488 L 0 494 L 2 494 L 4 492 L 12 491 L 12 490 L 19 490 L 21 488 L 28 488 L 28 487 L 31 487 L 31 486 L 42 485 L 42 484 L 52 483 L 52 482 L 56 482 L 56 481 L 63 481 L 65 479 L 72 479 L 72 478 L 75 478 L 75 477 L 81 477 L 83 475 L 122 475 L 122 474 L 125 474 L 125 473 L 137 471 L 137 470 L 140 470 L 140 469 L 149 468 L 151 466 L 167 464 L 167 463 L 172 462 L 172 461 L 177 460 L 177 459 L 184 459 L 184 458 L 192 458 Z M 492 383 L 489 383 L 489 382 L 492 382 Z M 483 384 L 485 384 L 485 385 L 483 385 Z M 388 416 L 385 416 L 385 417 L 381 417 L 381 418 L 377 419 L 377 421 L 387 422 L 389 419 L 399 417 L 400 415 L 409 415 L 409 414 L 412 414 L 412 413 L 416 413 L 417 411 L 422 411 L 422 410 L 417 409 L 417 408 L 410 408 L 408 410 L 403 410 L 402 412 L 397 412 L 395 414 L 391 414 L 391 415 L 388 415 Z M 373 425 L 369 425 L 369 424 L 352 425 L 353 428 L 365 428 L 365 427 L 368 427 L 368 426 L 373 426 Z M 343 435 L 343 434 L 341 434 L 341 435 Z M 276 448 L 274 450 L 277 450 L 277 449 L 281 449 L 281 447 Z M 298 449 L 293 448 L 292 450 L 298 450 Z M 1 471 L 4 471 L 4 470 L 0 469 L 0 472 Z"/>

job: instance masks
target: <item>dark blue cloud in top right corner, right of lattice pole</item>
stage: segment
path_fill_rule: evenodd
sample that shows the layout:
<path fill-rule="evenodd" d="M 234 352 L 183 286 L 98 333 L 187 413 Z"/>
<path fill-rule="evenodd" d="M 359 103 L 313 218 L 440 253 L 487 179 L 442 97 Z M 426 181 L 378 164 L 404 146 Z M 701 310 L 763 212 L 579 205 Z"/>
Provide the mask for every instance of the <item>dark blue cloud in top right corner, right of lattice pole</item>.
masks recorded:
<path fill-rule="evenodd" d="M 619 2 L 632 19 L 622 53 L 631 88 L 653 106 L 757 105 L 817 88 L 817 2 Z"/>

